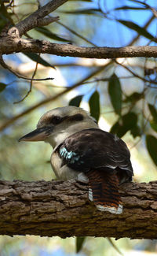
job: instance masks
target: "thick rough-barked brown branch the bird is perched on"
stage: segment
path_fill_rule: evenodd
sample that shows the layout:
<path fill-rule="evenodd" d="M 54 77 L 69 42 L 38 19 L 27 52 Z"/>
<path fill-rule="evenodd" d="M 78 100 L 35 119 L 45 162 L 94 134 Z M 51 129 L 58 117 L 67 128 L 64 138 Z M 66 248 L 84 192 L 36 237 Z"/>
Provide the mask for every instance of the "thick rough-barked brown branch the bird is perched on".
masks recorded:
<path fill-rule="evenodd" d="M 121 215 L 101 213 L 75 180 L 0 181 L 0 234 L 157 239 L 157 181 L 120 188 Z"/>

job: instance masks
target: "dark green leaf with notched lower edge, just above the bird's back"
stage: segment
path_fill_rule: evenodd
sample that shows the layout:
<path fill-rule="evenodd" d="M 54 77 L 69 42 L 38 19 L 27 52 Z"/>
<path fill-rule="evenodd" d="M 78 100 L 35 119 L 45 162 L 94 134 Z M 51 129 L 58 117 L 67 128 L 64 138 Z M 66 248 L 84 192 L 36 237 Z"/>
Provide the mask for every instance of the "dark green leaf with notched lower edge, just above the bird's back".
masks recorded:
<path fill-rule="evenodd" d="M 130 112 L 126 113 L 122 118 L 119 119 L 111 127 L 110 132 L 118 135 L 120 138 L 130 131 L 133 137 L 141 134 L 139 128 L 137 127 L 137 114 Z"/>

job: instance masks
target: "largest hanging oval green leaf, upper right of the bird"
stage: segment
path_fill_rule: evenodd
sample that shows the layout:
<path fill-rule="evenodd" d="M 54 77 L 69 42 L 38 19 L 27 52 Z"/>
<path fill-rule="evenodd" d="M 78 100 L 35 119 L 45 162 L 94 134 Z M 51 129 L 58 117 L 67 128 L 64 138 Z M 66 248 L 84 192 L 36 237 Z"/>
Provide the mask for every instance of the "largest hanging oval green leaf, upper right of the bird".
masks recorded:
<path fill-rule="evenodd" d="M 115 113 L 121 114 L 122 109 L 122 89 L 119 77 L 113 74 L 108 83 L 108 93 L 110 95 L 111 104 L 115 109 Z"/>

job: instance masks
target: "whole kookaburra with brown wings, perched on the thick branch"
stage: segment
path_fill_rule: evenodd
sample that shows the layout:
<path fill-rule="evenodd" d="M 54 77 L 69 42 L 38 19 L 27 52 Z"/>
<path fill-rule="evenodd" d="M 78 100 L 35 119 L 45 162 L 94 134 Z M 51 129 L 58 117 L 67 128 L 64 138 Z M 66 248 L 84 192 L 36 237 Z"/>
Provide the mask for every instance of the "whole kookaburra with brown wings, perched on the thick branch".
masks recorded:
<path fill-rule="evenodd" d="M 101 130 L 86 110 L 76 106 L 49 110 L 19 141 L 49 143 L 57 179 L 88 183 L 89 201 L 97 210 L 122 213 L 119 185 L 132 181 L 130 150 L 117 135 Z"/>

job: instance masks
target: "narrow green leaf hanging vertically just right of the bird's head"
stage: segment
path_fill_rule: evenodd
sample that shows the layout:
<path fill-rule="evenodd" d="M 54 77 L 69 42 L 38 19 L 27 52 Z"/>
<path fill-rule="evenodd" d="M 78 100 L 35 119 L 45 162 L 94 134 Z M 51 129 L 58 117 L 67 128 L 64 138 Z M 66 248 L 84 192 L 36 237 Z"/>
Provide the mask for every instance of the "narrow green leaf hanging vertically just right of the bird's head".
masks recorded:
<path fill-rule="evenodd" d="M 100 97 L 97 91 L 94 91 L 93 95 L 89 98 L 90 114 L 98 122 L 100 117 Z"/>

